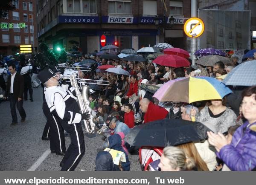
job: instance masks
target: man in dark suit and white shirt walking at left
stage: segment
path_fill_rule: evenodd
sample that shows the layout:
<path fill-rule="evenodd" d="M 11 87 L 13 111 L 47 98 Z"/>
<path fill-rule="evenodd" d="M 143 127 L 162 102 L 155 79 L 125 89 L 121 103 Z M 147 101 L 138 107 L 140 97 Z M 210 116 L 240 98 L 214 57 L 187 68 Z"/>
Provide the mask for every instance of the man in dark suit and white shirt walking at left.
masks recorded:
<path fill-rule="evenodd" d="M 24 92 L 24 80 L 20 73 L 17 73 L 15 64 L 8 65 L 9 75 L 7 80 L 7 87 L 4 99 L 6 96 L 9 96 L 10 107 L 11 107 L 11 114 L 12 114 L 12 124 L 10 125 L 15 126 L 17 124 L 17 114 L 16 114 L 16 107 L 19 110 L 21 120 L 20 122 L 24 122 L 26 119 L 26 113 L 23 109 L 23 92 Z"/>

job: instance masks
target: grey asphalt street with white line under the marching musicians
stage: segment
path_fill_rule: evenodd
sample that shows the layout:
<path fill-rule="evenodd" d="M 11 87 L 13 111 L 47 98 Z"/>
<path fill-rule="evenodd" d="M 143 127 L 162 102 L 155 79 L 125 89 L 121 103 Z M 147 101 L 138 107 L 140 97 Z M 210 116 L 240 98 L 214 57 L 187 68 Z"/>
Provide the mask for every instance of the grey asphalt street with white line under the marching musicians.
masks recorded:
<path fill-rule="evenodd" d="M 12 118 L 9 101 L 0 103 L 0 171 L 59 171 L 62 156 L 49 152 L 49 141 L 42 141 L 45 116 L 42 111 L 42 88 L 33 89 L 34 102 L 25 101 L 23 107 L 27 117 L 24 123 L 10 127 Z M 18 121 L 20 116 L 18 114 Z M 94 171 L 96 150 L 103 141 L 100 135 L 94 138 L 84 137 L 85 154 L 76 171 Z M 66 137 L 66 148 L 70 138 Z M 48 150 L 48 151 L 47 151 Z M 49 155 L 48 155 L 49 153 Z M 44 156 L 42 156 L 44 154 Z M 42 156 L 42 157 L 41 157 Z M 34 164 L 41 157 L 37 164 Z M 129 155 L 131 171 L 140 171 L 137 155 Z M 38 166 L 38 167 L 37 167 Z M 36 168 L 37 167 L 37 168 Z M 36 168 L 36 169 L 35 169 Z"/>

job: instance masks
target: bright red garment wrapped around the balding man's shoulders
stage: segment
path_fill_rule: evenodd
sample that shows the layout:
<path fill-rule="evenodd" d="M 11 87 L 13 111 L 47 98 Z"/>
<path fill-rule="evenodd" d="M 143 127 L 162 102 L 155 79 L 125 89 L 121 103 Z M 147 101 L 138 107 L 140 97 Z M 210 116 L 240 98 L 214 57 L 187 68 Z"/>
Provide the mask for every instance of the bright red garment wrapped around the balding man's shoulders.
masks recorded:
<path fill-rule="evenodd" d="M 144 123 L 165 119 L 167 114 L 168 111 L 165 108 L 155 105 L 150 101 L 148 104 L 148 110 L 144 115 Z"/>

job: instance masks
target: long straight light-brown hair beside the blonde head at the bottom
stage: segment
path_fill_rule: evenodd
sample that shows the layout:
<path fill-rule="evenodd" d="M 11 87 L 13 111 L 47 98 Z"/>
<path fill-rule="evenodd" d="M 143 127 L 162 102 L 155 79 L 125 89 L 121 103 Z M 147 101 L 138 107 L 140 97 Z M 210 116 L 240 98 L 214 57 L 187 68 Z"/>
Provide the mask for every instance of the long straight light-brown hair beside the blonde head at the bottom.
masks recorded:
<path fill-rule="evenodd" d="M 180 149 L 182 149 L 187 157 L 191 157 L 195 161 L 195 167 L 198 171 L 209 171 L 207 168 L 207 164 L 204 162 L 204 160 L 201 158 L 200 154 L 198 153 L 198 150 L 195 147 L 195 144 L 185 143 L 181 145 L 177 145 Z"/>

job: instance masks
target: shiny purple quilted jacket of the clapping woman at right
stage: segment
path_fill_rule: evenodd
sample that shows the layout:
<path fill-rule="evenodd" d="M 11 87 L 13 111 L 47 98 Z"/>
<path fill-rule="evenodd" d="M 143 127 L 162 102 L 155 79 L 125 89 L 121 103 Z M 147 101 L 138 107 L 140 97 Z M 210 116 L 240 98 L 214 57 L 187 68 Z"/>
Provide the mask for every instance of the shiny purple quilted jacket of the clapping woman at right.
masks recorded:
<path fill-rule="evenodd" d="M 250 130 L 248 124 L 246 121 L 241 125 L 234 133 L 231 144 L 217 153 L 231 171 L 250 171 L 256 167 L 256 132 Z"/>

